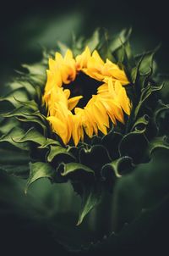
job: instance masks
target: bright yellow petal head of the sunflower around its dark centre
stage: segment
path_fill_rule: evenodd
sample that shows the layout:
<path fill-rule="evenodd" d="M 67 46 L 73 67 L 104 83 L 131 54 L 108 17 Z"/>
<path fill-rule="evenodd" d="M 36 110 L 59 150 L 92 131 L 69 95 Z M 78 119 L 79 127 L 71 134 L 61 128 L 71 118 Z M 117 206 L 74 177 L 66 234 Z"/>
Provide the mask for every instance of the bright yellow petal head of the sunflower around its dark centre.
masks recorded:
<path fill-rule="evenodd" d="M 131 104 L 123 87 L 129 83 L 127 76 L 108 58 L 104 62 L 96 50 L 90 53 L 89 47 L 86 47 L 76 58 L 70 50 L 64 57 L 56 53 L 55 59 L 49 59 L 49 70 L 46 72 L 44 100 L 48 109 L 47 120 L 64 144 L 73 138 L 77 145 L 84 140 L 84 131 L 90 137 L 97 135 L 98 131 L 106 135 L 110 120 L 113 125 L 117 124 L 117 120 L 124 123 L 123 112 L 130 114 Z M 90 100 L 84 106 L 79 105 L 86 96 L 85 93 L 81 95 L 80 74 L 86 76 L 87 89 L 89 79 L 98 83 L 95 94 L 91 93 Z M 92 92 L 93 88 L 88 91 Z"/>

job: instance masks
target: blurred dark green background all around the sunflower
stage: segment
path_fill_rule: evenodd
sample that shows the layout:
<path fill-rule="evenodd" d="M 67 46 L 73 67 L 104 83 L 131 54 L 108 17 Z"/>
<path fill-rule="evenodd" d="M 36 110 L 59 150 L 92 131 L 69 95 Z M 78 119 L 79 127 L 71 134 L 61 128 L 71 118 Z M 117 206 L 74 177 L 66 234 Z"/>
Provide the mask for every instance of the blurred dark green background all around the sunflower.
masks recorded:
<path fill-rule="evenodd" d="M 111 34 L 132 26 L 134 53 L 161 43 L 156 62 L 162 74 L 169 74 L 167 12 L 164 1 L 158 5 L 147 1 L 108 0 L 2 3 L 0 94 L 5 93 L 5 83 L 20 64 L 41 59 L 42 47 L 53 48 L 57 41 L 69 44 L 73 34 L 90 36 L 99 26 Z M 165 100 L 168 92 L 165 86 L 162 93 Z M 168 152 L 156 152 L 149 164 L 140 164 L 134 174 L 123 177 L 117 182 L 114 198 L 107 196 L 105 203 L 93 210 L 80 227 L 75 226 L 79 198 L 68 184 L 51 186 L 49 181 L 41 180 L 25 196 L 25 181 L 2 171 L 0 236 L 6 254 L 12 248 L 17 253 L 33 252 L 34 255 L 48 251 L 51 255 L 54 251 L 56 255 L 63 255 L 66 251 L 56 239 L 69 248 L 80 249 L 81 244 L 86 246 L 91 241 L 101 240 L 112 230 L 122 231 L 119 236 L 107 239 L 104 246 L 91 247 L 90 252 L 102 250 L 119 255 L 133 250 L 137 255 L 146 255 L 148 250 L 164 250 L 169 227 L 168 157 Z M 147 208 L 151 209 L 144 210 Z M 125 225 L 131 222 L 132 225 Z"/>

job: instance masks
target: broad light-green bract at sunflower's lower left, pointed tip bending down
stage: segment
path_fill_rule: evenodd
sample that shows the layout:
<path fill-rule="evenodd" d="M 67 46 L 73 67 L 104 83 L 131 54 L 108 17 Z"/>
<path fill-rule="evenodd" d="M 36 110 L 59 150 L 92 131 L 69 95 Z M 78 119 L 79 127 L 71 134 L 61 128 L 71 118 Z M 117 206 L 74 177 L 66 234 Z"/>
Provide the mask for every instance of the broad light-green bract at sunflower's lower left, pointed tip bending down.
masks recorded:
<path fill-rule="evenodd" d="M 50 164 L 42 162 L 36 162 L 34 164 L 30 163 L 30 177 L 25 187 L 25 193 L 27 193 L 29 186 L 33 182 L 41 178 L 48 178 L 50 180 L 53 180 L 54 174 L 55 170 Z"/>

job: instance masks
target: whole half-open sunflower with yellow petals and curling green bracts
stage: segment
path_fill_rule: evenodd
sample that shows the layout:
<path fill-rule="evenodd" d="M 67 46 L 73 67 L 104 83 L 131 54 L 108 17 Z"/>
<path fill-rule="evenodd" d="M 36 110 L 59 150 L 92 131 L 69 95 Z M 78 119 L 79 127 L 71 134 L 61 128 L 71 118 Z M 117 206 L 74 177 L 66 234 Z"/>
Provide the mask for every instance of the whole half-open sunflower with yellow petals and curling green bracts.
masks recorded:
<path fill-rule="evenodd" d="M 156 50 L 134 56 L 129 35 L 95 31 L 72 47 L 58 43 L 57 53 L 23 65 L 0 98 L 0 143 L 8 144 L 0 152 L 8 159 L 17 150 L 0 168 L 26 178 L 25 192 L 40 178 L 70 181 L 82 198 L 78 224 L 117 179 L 169 148 Z"/>

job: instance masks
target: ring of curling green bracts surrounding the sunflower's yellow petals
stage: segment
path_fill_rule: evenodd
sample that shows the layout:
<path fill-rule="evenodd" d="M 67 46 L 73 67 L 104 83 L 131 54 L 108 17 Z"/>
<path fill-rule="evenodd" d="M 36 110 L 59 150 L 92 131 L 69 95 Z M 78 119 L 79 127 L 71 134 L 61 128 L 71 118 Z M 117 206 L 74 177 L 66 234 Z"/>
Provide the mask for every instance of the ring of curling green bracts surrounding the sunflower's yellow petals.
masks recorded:
<path fill-rule="evenodd" d="M 161 101 L 163 83 L 157 80 L 155 51 L 134 56 L 129 45 L 131 31 L 109 38 L 100 30 L 89 40 L 74 40 L 74 55 L 86 45 L 96 49 L 122 67 L 130 85 L 126 87 L 133 108 L 125 125 L 118 124 L 106 136 L 93 136 L 78 147 L 64 146 L 52 133 L 46 120 L 42 95 L 46 85 L 47 61 L 53 53 L 44 53 L 38 64 L 24 64 L 8 84 L 8 94 L 0 98 L 0 169 L 9 175 L 27 179 L 25 192 L 40 178 L 53 183 L 71 181 L 82 198 L 78 225 L 100 203 L 106 192 L 113 193 L 117 179 L 148 162 L 156 148 L 169 148 L 166 113 L 169 106 Z M 58 43 L 57 50 L 67 47 Z M 8 158 L 8 154 L 14 158 Z"/>

